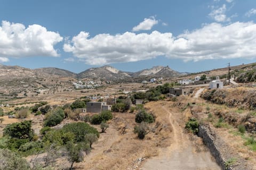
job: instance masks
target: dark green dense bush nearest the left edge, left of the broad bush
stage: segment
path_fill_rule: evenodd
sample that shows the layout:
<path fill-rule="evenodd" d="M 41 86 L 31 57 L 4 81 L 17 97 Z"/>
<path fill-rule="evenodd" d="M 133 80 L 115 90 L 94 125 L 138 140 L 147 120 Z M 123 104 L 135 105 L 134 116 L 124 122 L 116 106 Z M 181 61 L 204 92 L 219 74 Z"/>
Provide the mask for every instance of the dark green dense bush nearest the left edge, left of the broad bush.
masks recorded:
<path fill-rule="evenodd" d="M 34 132 L 31 129 L 31 122 L 32 121 L 23 121 L 9 124 L 4 128 L 3 135 L 9 135 L 17 139 L 31 139 L 34 136 Z"/>

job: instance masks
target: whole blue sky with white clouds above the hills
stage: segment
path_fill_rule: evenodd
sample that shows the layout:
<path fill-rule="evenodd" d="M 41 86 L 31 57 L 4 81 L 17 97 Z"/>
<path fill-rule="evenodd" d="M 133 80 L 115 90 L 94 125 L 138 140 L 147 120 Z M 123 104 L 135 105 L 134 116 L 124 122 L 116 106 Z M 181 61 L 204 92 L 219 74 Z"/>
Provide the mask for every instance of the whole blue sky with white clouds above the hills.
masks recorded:
<path fill-rule="evenodd" d="M 0 0 L 0 64 L 75 73 L 255 62 L 255 0 Z"/>

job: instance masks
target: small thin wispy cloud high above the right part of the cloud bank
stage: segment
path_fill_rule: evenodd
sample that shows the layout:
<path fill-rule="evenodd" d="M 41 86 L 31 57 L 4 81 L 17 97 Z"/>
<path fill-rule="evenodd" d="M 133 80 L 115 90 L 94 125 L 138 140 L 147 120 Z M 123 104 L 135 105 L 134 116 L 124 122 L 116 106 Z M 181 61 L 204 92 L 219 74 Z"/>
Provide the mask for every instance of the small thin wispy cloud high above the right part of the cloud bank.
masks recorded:
<path fill-rule="evenodd" d="M 212 12 L 209 14 L 209 16 L 217 22 L 229 22 L 230 18 L 227 17 L 226 11 L 227 8 L 225 4 L 219 8 L 214 8 L 213 6 Z"/>

